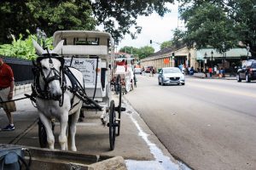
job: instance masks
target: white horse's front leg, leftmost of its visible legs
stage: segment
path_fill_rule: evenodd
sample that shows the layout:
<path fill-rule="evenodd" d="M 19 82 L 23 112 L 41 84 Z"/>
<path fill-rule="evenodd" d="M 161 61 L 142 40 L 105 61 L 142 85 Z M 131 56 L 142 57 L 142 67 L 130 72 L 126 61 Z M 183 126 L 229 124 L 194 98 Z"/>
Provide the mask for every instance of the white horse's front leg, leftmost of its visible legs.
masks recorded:
<path fill-rule="evenodd" d="M 47 134 L 47 142 L 49 144 L 49 149 L 54 150 L 55 149 L 55 136 L 53 135 L 53 132 L 52 132 L 52 129 L 51 129 L 51 122 L 40 111 L 39 111 L 39 117 L 40 117 L 40 120 L 44 124 L 44 127 L 45 127 L 45 131 L 46 131 L 46 134 Z"/>

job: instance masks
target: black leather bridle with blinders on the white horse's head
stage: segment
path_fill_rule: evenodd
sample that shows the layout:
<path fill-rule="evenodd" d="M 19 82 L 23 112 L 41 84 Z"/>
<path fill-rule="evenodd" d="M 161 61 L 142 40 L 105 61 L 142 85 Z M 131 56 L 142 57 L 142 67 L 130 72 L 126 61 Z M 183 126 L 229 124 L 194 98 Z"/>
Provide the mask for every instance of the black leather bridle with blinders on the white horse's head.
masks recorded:
<path fill-rule="evenodd" d="M 44 75 L 44 71 L 43 71 L 43 66 L 41 65 L 40 61 L 42 59 L 49 59 L 49 73 L 47 74 L 47 76 Z M 61 62 L 61 68 L 60 71 L 57 71 L 55 69 L 55 66 L 52 62 L 52 59 L 58 59 Z M 53 100 L 59 100 L 60 101 L 60 106 L 63 105 L 63 98 L 64 98 L 64 93 L 67 89 L 66 86 L 66 79 L 65 76 L 63 74 L 63 67 L 64 67 L 64 59 L 61 57 L 53 57 L 53 56 L 44 56 L 44 57 L 38 57 L 37 59 L 37 63 L 35 64 L 35 68 L 33 69 L 33 73 L 34 73 L 34 77 L 35 77 L 35 81 L 32 84 L 32 92 L 34 93 L 34 95 L 36 95 L 37 97 L 41 98 L 41 99 L 53 99 Z M 53 76 L 51 76 L 53 73 Z M 44 89 L 42 89 L 40 87 L 39 84 L 39 77 L 42 77 L 44 80 Z M 60 86 L 61 86 L 61 90 L 62 90 L 62 98 L 60 99 L 54 99 L 50 96 L 50 92 L 49 92 L 49 82 L 52 82 L 54 80 L 58 80 L 60 82 Z"/>

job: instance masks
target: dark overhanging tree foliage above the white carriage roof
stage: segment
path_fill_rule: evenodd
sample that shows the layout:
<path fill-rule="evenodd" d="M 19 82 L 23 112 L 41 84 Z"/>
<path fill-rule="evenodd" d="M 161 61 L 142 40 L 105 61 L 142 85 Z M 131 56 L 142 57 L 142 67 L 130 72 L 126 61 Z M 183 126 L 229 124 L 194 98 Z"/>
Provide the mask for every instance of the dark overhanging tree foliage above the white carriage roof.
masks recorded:
<path fill-rule="evenodd" d="M 57 30 L 94 30 L 100 25 L 118 42 L 125 34 L 136 37 L 142 31 L 138 15 L 156 11 L 163 16 L 166 3 L 173 0 L 1 0 L 0 44 L 11 42 L 10 35 L 26 37 L 26 29 L 35 33 L 39 27 L 51 36 Z"/>

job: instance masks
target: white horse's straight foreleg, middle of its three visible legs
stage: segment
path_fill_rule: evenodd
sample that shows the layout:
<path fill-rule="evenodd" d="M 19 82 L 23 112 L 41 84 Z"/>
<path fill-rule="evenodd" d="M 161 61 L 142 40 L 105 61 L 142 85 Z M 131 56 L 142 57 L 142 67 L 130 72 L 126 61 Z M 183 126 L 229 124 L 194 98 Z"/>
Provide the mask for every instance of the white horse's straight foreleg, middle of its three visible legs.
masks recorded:
<path fill-rule="evenodd" d="M 61 133 L 59 135 L 61 150 L 67 150 L 67 136 L 66 136 L 67 121 L 68 121 L 68 111 L 63 111 L 63 114 L 60 120 Z"/>

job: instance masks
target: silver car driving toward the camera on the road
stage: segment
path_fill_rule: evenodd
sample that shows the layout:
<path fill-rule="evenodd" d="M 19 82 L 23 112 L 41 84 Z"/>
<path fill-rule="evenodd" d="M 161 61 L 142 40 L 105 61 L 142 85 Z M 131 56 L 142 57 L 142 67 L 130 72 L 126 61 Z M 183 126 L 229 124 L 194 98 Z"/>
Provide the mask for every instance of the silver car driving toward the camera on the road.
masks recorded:
<path fill-rule="evenodd" d="M 164 67 L 160 70 L 158 75 L 158 84 L 181 84 L 185 85 L 185 76 L 177 67 Z"/>

